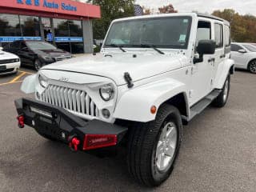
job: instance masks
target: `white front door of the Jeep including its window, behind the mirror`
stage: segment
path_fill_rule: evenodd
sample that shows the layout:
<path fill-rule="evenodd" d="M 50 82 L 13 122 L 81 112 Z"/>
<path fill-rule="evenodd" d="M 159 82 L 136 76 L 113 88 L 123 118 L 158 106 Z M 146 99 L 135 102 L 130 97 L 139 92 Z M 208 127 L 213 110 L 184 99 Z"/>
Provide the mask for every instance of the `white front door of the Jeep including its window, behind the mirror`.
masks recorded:
<path fill-rule="evenodd" d="M 210 21 L 199 21 L 196 46 L 200 40 L 210 40 L 211 37 Z M 192 77 L 189 95 L 191 105 L 200 101 L 200 99 L 204 98 L 212 90 L 213 63 L 214 55 L 210 54 L 203 55 L 203 62 L 194 63 L 191 71 Z"/>

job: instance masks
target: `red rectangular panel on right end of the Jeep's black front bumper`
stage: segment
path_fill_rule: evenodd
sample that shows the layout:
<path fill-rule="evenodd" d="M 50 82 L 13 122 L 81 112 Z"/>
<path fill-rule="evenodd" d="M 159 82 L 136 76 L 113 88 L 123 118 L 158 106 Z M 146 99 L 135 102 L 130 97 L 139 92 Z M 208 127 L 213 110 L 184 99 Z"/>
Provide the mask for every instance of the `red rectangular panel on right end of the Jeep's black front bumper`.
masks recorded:
<path fill-rule="evenodd" d="M 83 150 L 94 150 L 106 146 L 116 146 L 118 136 L 115 134 L 86 134 Z"/>

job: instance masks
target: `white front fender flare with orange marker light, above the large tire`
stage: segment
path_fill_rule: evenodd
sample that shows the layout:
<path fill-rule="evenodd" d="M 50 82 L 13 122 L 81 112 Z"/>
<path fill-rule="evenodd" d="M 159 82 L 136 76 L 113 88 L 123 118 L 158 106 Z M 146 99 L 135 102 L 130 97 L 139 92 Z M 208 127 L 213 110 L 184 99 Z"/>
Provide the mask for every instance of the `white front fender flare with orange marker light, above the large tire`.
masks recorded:
<path fill-rule="evenodd" d="M 186 85 L 173 78 L 134 87 L 118 100 L 114 118 L 135 122 L 153 121 L 156 114 L 150 113 L 151 106 L 158 109 L 163 102 L 181 93 L 186 93 Z"/>

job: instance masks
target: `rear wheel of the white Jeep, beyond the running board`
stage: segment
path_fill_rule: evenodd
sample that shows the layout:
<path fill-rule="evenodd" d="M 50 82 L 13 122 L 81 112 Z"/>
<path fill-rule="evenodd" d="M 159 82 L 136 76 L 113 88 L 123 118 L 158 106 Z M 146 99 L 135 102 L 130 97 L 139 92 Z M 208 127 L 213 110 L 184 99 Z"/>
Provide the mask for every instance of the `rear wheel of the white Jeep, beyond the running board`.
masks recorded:
<path fill-rule="evenodd" d="M 225 106 L 229 98 L 229 94 L 230 94 L 230 74 L 226 78 L 226 81 L 222 88 L 222 92 L 218 95 L 217 98 L 214 99 L 214 102 L 212 103 L 213 106 L 216 106 L 219 108 Z"/>

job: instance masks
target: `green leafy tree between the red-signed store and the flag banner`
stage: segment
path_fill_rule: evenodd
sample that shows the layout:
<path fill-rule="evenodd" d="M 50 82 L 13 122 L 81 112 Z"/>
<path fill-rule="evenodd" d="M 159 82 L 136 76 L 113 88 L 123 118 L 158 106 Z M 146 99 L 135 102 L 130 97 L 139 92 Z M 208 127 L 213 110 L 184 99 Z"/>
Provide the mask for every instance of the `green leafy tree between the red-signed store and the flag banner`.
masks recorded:
<path fill-rule="evenodd" d="M 116 18 L 134 16 L 134 0 L 88 0 L 101 6 L 102 18 L 93 21 L 94 38 L 103 39 Z"/>

